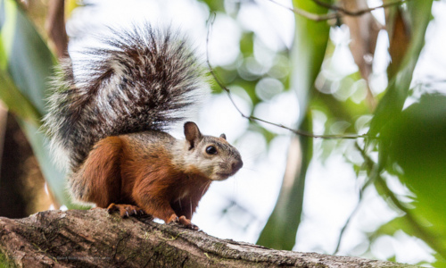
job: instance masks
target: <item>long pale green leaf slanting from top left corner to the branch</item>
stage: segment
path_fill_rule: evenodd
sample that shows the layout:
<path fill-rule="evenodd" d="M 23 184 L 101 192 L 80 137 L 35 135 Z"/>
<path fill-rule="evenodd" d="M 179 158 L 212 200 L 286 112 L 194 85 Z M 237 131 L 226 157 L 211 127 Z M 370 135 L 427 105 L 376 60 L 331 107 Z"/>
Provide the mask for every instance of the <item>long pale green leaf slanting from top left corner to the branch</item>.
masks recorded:
<path fill-rule="evenodd" d="M 12 0 L 0 0 L 0 97 L 15 113 L 29 139 L 45 180 L 60 204 L 70 205 L 65 175 L 51 161 L 39 132 L 54 55 L 25 13 Z"/>

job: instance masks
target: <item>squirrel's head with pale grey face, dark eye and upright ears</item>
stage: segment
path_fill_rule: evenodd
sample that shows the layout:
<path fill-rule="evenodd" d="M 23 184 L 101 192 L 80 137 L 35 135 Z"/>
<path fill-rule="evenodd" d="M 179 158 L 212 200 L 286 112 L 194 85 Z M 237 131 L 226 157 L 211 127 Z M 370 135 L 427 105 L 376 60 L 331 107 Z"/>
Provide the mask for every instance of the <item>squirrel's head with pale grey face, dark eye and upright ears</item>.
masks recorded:
<path fill-rule="evenodd" d="M 231 146 L 226 135 L 219 138 L 202 135 L 193 121 L 185 123 L 186 163 L 210 180 L 226 180 L 244 165 L 240 153 Z"/>

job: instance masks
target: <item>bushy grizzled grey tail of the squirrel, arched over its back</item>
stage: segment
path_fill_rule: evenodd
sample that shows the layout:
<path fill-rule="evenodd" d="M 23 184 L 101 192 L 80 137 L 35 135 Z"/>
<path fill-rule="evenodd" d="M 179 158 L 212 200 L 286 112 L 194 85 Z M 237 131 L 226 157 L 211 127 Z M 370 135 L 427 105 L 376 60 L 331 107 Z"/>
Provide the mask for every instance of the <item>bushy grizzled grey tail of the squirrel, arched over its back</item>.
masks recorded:
<path fill-rule="evenodd" d="M 111 30 L 100 41 L 80 51 L 81 60 L 61 64 L 44 119 L 52 147 L 69 155 L 71 170 L 102 138 L 184 120 L 205 92 L 202 68 L 178 33 L 145 24 Z"/>

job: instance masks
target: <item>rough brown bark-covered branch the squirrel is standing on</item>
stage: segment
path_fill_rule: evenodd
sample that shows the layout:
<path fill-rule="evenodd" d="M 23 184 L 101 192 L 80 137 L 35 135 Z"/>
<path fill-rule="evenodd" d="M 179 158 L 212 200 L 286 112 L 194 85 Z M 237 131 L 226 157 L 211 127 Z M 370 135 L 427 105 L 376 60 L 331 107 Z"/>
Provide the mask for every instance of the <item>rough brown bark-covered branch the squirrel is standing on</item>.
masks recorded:
<path fill-rule="evenodd" d="M 358 257 L 274 250 L 216 239 L 151 217 L 104 209 L 0 218 L 0 266 L 23 267 L 410 267 Z"/>

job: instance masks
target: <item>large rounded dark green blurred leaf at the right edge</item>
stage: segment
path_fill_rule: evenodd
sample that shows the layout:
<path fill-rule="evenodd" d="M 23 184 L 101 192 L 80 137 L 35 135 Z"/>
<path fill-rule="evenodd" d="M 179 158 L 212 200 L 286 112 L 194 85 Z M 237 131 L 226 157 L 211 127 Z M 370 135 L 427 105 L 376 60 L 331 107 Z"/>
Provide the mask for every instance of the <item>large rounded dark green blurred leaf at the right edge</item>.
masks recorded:
<path fill-rule="evenodd" d="M 383 168 L 416 196 L 396 225 L 446 260 L 446 96 L 424 95 L 382 130 Z M 385 196 L 389 196 L 390 193 Z M 409 217 L 410 216 L 410 217 Z M 410 221 L 410 219 L 412 219 Z M 417 219 L 417 220 L 413 220 Z M 446 264 L 446 263 L 445 263 Z"/>

